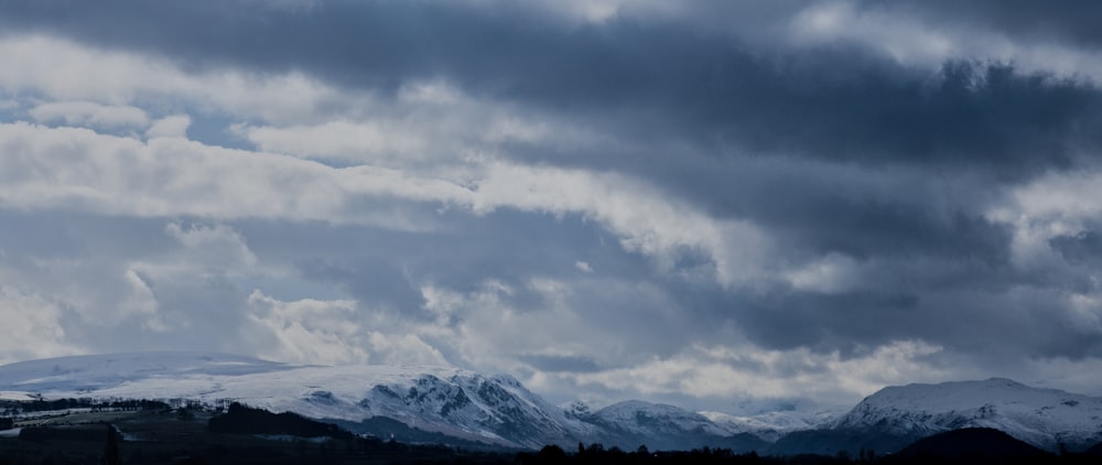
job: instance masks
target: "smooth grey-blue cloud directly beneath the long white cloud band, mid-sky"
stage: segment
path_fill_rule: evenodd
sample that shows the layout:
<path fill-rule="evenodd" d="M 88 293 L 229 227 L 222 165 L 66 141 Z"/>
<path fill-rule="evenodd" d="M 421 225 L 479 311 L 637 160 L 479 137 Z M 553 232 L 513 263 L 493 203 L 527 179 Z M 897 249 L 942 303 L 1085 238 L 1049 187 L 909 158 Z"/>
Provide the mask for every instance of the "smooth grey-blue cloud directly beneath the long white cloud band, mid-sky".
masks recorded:
<path fill-rule="evenodd" d="M 439 221 L 437 229 L 422 233 L 272 221 L 242 221 L 238 227 L 257 253 L 278 255 L 310 279 L 409 316 L 420 313 L 424 284 L 473 292 L 487 277 L 498 277 L 518 288 L 508 300 L 523 310 L 544 304 L 523 290 L 527 280 L 580 274 L 577 261 L 627 279 L 650 274 L 646 260 L 625 252 L 615 238 L 576 217 L 533 218 L 503 210 L 475 223 L 458 214 L 441 215 Z M 605 239 L 607 245 L 602 244 Z"/>

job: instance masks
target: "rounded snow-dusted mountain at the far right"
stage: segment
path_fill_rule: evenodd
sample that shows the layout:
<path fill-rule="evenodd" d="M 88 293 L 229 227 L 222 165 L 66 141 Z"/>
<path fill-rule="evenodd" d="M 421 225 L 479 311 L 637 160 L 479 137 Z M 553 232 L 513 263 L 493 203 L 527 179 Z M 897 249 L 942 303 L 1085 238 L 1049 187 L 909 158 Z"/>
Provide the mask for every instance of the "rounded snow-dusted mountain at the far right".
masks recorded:
<path fill-rule="evenodd" d="M 1036 446 L 1102 440 L 1102 398 L 1031 388 L 1009 379 L 890 387 L 828 425 L 932 434 L 970 426 L 1002 430 Z"/>

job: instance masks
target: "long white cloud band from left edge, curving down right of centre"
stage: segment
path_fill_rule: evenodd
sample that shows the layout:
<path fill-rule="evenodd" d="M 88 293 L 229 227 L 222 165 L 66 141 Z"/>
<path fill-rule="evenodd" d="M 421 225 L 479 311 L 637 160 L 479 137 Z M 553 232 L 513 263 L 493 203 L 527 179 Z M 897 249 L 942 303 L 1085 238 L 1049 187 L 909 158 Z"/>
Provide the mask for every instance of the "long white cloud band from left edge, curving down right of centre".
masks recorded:
<path fill-rule="evenodd" d="M 173 132 L 183 118 L 170 125 Z M 152 131 L 152 130 L 151 130 Z M 760 278 L 769 240 L 753 224 L 715 220 L 656 187 L 614 173 L 507 162 L 471 164 L 474 188 L 376 166 L 333 169 L 262 152 L 229 150 L 180 138 L 148 143 L 72 128 L 0 125 L 7 182 L 0 203 L 17 208 L 77 207 L 101 214 L 198 215 L 213 218 L 320 219 L 418 229 L 390 210 L 350 209 L 381 196 L 458 205 L 476 215 L 497 208 L 577 214 L 620 236 L 630 251 L 672 269 L 684 248 L 714 260 L 715 279 L 737 284 Z M 468 175 L 472 173 L 467 173 Z"/>

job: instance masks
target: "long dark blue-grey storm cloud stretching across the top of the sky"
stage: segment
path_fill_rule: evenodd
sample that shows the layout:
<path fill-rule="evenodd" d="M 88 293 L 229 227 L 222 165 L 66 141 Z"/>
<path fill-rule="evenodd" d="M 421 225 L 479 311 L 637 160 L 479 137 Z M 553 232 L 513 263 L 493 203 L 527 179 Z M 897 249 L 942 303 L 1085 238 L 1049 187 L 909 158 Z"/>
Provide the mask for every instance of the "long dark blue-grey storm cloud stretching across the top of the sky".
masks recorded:
<path fill-rule="evenodd" d="M 496 3 L 115 0 L 64 2 L 67 14 L 55 3 L 9 2 L 0 12 L 9 30 L 43 29 L 194 66 L 299 69 L 387 91 L 443 77 L 619 137 L 715 153 L 979 166 L 1016 179 L 1068 166 L 1072 148 L 1098 147 L 1085 130 L 1102 108 L 1093 87 L 968 57 L 931 77 L 855 45 L 763 53 L 674 20 L 625 13 L 575 24 Z"/>

